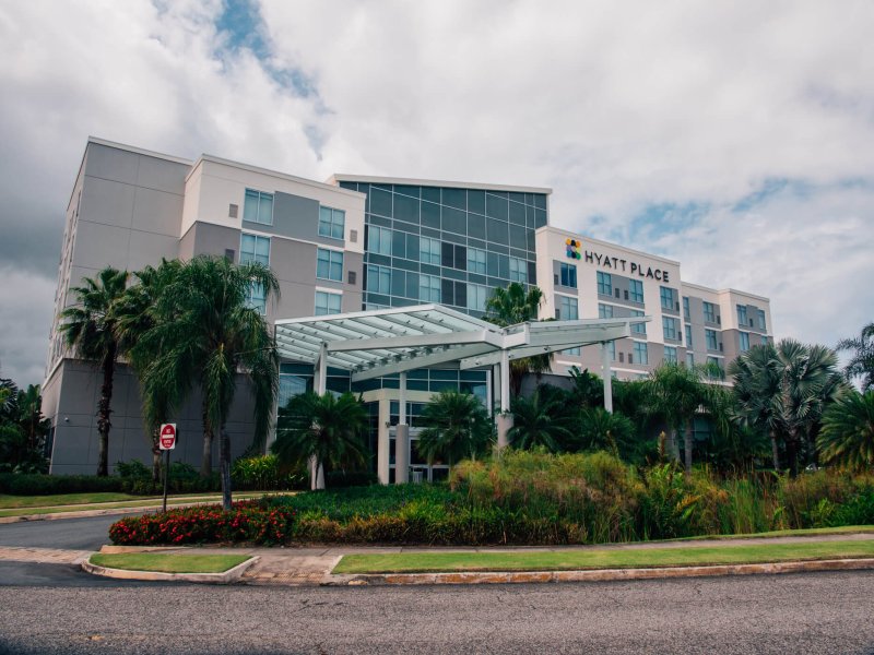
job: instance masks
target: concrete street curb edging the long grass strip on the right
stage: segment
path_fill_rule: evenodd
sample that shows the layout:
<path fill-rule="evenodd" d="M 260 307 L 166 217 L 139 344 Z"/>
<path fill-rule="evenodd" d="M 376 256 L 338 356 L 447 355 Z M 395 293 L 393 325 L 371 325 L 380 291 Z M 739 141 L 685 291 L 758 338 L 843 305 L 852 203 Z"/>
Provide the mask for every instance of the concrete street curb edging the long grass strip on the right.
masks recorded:
<path fill-rule="evenodd" d="M 709 575 L 757 575 L 807 573 L 812 571 L 861 571 L 874 569 L 874 558 L 722 564 L 712 567 L 665 567 L 659 569 L 600 569 L 589 571 L 495 571 L 483 573 L 387 573 L 328 575 L 322 586 L 379 586 L 389 584 L 517 584 L 532 582 L 610 582 L 616 580 L 662 580 Z"/>

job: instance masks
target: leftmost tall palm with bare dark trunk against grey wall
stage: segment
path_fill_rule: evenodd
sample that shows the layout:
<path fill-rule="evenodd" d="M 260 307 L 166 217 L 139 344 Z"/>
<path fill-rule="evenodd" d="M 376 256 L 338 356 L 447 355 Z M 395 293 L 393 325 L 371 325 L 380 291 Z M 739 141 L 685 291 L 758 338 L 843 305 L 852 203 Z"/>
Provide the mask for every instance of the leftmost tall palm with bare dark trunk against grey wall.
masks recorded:
<path fill-rule="evenodd" d="M 128 272 L 106 267 L 95 278 L 85 277 L 81 287 L 70 289 L 78 298 L 78 307 L 61 312 L 60 325 L 67 346 L 78 357 L 96 361 L 103 372 L 101 400 L 97 404 L 97 432 L 99 451 L 97 475 L 109 475 L 109 429 L 111 421 L 113 377 L 116 360 L 121 354 L 117 325 L 119 306 L 125 296 Z"/>

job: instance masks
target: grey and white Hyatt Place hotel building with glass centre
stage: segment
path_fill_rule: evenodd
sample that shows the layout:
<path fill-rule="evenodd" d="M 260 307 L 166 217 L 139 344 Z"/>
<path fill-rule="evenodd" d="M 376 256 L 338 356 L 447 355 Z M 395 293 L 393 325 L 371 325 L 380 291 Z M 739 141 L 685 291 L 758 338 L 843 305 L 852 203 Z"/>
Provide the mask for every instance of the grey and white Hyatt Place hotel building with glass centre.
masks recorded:
<path fill-rule="evenodd" d="M 273 270 L 279 299 L 268 303 L 257 289 L 249 299 L 270 322 L 430 302 L 482 317 L 492 290 L 512 282 L 543 289 L 541 318 L 652 317 L 615 343 L 611 356 L 621 379 L 645 376 L 662 360 L 724 367 L 770 337 L 767 299 L 686 284 L 678 262 L 554 228 L 550 194 L 534 187 L 352 175 L 323 183 L 210 155 L 191 162 L 90 139 L 67 211 L 55 315 L 74 301 L 71 287 L 105 266 L 137 271 L 162 258 L 214 254 Z M 598 349 L 586 347 L 557 355 L 554 368 L 597 372 L 600 361 Z M 311 366 L 283 361 L 280 403 L 311 388 Z M 408 415 L 415 425 L 430 395 L 445 389 L 485 401 L 492 386 L 485 370 L 411 371 Z M 329 369 L 328 389 L 364 395 L 375 467 L 390 481 L 397 376 L 351 385 L 347 373 Z M 57 319 L 43 393 L 52 425 L 51 472 L 92 472 L 99 378 L 66 352 Z M 199 407 L 196 392 L 177 418 L 174 456 L 192 464 L 201 452 Z M 238 454 L 253 432 L 245 381 L 228 431 Z M 109 462 L 150 456 L 137 380 L 121 364 Z M 429 479 L 445 474 L 424 464 L 415 440 L 409 462 Z"/>

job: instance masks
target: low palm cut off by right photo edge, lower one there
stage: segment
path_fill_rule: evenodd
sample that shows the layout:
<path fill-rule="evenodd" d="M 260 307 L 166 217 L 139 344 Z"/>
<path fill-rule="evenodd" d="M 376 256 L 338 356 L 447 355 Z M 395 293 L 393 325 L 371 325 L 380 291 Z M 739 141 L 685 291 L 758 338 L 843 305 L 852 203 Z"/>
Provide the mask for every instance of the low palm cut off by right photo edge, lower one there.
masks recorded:
<path fill-rule="evenodd" d="M 874 467 L 874 391 L 846 390 L 826 409 L 816 445 L 826 463 Z"/>

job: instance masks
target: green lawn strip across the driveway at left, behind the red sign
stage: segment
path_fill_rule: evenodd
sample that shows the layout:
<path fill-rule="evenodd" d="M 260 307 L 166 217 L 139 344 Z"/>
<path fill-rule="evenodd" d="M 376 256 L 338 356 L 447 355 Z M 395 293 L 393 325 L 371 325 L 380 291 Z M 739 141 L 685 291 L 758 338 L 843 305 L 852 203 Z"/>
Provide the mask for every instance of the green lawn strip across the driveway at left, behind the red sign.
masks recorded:
<path fill-rule="evenodd" d="M 260 498 L 271 491 L 247 491 L 235 493 L 235 500 Z M 286 493 L 286 492 L 283 492 Z M 214 500 L 221 502 L 220 493 L 185 493 L 168 496 L 167 503 L 198 502 Z M 0 495 L 0 516 L 25 516 L 31 514 L 56 514 L 62 512 L 81 512 L 84 510 L 108 510 L 117 508 L 149 508 L 160 505 L 160 496 L 131 496 L 113 491 L 99 493 L 61 493 L 57 496 L 7 496 Z"/>

